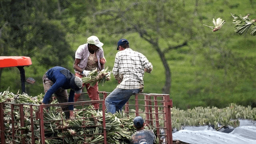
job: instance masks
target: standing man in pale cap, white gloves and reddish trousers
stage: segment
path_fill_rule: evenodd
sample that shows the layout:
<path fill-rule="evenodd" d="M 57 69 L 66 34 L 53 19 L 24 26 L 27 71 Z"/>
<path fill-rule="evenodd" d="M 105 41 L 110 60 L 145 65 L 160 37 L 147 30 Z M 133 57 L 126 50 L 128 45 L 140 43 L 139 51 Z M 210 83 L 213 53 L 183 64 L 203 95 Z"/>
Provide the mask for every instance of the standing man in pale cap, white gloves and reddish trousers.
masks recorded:
<path fill-rule="evenodd" d="M 92 70 L 104 70 L 106 59 L 102 49 L 103 43 L 100 42 L 97 36 L 90 36 L 87 38 L 87 43 L 78 47 L 75 54 L 74 71 L 76 76 L 82 78 L 88 76 Z M 83 84 L 86 87 L 88 96 L 91 100 L 100 100 L 98 92 L 98 82 L 94 86 L 90 84 Z M 74 101 L 77 102 L 81 94 L 75 94 Z M 94 108 L 100 108 L 99 103 L 93 103 Z"/>

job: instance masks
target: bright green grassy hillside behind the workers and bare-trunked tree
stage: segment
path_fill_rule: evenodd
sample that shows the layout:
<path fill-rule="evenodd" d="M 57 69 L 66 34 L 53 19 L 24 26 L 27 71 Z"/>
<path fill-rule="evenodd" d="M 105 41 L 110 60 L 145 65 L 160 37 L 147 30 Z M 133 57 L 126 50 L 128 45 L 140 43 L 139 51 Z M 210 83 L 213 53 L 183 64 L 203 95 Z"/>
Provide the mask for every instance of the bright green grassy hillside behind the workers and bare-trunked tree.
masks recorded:
<path fill-rule="evenodd" d="M 216 106 L 225 108 L 230 103 L 256 107 L 256 37 L 234 32 L 232 14 L 256 18 L 254 0 L 181 0 L 186 10 L 184 23 L 191 23 L 193 32 L 188 45 L 166 53 L 171 69 L 172 83 L 170 98 L 176 108 L 188 109 L 197 106 Z M 213 26 L 212 19 L 222 18 L 226 21 L 222 29 L 212 32 L 204 26 Z M 165 70 L 158 53 L 152 46 L 136 33 L 124 36 L 106 34 L 68 34 L 67 40 L 75 51 L 79 45 L 86 43 L 90 35 L 96 35 L 104 43 L 106 66 L 112 70 L 116 55 L 116 42 L 126 38 L 130 48 L 144 54 L 153 64 L 151 74 L 144 75 L 144 93 L 162 93 Z M 178 35 L 178 34 L 177 34 Z M 179 36 L 177 36 L 179 37 Z M 175 44 L 174 44 L 175 45 Z M 74 55 L 73 55 L 74 56 Z M 68 57 L 69 58 L 69 57 Z M 25 68 L 26 77 L 35 78 L 36 84 L 26 84 L 29 95 L 43 93 L 42 75 L 46 69 L 37 68 L 38 62 L 32 59 L 32 66 Z M 73 71 L 73 61 L 65 66 Z M 117 86 L 116 80 L 99 86 L 100 91 L 112 92 Z M 2 73 L 1 91 L 10 86 L 10 91 L 18 92 L 20 88 L 19 71 L 8 68 Z M 85 92 L 85 91 L 84 91 Z"/>

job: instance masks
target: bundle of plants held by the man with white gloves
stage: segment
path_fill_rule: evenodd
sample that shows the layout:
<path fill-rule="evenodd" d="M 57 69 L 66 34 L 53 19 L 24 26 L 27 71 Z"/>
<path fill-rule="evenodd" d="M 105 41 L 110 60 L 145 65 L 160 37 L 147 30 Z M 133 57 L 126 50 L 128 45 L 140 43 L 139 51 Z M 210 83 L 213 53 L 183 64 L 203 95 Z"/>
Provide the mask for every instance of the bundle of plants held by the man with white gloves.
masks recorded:
<path fill-rule="evenodd" d="M 108 70 L 108 67 L 101 71 L 96 68 L 96 70 L 90 71 L 88 76 L 82 77 L 81 79 L 83 83 L 90 84 L 90 86 L 94 86 L 97 82 L 104 86 L 104 83 L 111 79 L 111 73 L 112 71 Z"/>

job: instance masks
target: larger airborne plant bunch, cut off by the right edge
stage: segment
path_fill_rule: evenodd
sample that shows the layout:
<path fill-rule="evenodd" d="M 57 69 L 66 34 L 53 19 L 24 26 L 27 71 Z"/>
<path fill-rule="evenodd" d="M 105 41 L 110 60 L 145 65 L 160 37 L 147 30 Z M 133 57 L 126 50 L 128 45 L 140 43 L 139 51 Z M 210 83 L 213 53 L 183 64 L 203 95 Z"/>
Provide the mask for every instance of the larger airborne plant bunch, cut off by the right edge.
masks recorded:
<path fill-rule="evenodd" d="M 247 31 L 250 29 L 250 27 L 252 25 L 254 25 L 254 22 L 256 22 L 256 19 L 250 20 L 250 18 L 249 18 L 250 15 L 249 14 L 247 14 L 244 17 L 238 16 L 236 14 L 231 14 L 231 15 L 234 18 L 234 20 L 233 20 L 233 24 L 235 24 L 235 30 L 234 31 L 236 33 L 238 33 L 239 35 L 242 35 L 243 33 L 245 33 L 244 35 L 246 36 Z M 256 35 L 256 27 L 252 28 L 251 35 L 252 36 Z"/>

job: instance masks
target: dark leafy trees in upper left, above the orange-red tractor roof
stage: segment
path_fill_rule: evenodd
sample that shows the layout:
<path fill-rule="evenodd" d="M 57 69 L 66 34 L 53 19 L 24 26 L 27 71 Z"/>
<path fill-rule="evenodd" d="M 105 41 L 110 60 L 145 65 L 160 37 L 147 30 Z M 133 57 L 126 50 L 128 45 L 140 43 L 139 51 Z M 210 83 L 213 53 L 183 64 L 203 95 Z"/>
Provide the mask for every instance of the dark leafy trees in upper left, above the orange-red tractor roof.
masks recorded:
<path fill-rule="evenodd" d="M 48 4 L 39 0 L 4 0 L 0 4 L 2 56 L 36 57 L 46 68 L 72 60 L 65 28 L 52 15 L 52 11 L 58 10 L 51 7 L 55 5 L 53 0 Z"/>

